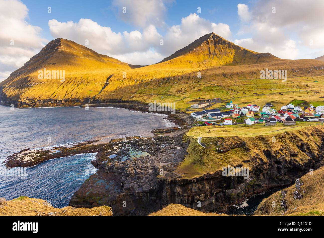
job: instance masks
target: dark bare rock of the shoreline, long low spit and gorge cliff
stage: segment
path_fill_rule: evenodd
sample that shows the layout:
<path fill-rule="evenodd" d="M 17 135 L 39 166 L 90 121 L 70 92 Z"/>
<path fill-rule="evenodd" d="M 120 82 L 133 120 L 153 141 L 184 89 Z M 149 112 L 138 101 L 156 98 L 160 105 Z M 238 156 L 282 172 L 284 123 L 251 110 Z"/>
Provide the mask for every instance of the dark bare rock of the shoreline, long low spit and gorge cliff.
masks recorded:
<path fill-rule="evenodd" d="M 140 104 L 133 103 L 89 106 L 145 111 Z M 291 148 L 281 148 L 281 151 L 267 149 L 260 151 L 266 160 L 263 155 L 251 154 L 249 161 L 253 168 L 249 179 L 223 176 L 220 170 L 186 178 L 179 173 L 178 166 L 185 159 L 191 143 L 191 140 L 183 140 L 183 135 L 191 128 L 191 119 L 188 114 L 175 115 L 179 124 L 182 123 L 181 126 L 153 130 L 153 137 L 133 136 L 108 143 L 88 141 L 50 150 L 27 149 L 9 156 L 5 161 L 6 166 L 32 166 L 52 158 L 97 153 L 96 159 L 91 162 L 98 168 L 97 173 L 91 175 L 75 192 L 69 205 L 79 208 L 105 205 L 112 208 L 114 215 L 147 215 L 171 203 L 197 210 L 224 212 L 230 205 L 240 203 L 250 195 L 288 186 L 310 168 L 317 169 L 324 164 L 324 135 L 321 136 L 322 129 L 314 128 L 314 133 L 318 134 L 317 141 L 321 142 L 316 142 L 316 149 L 314 145 L 310 146 L 311 142 L 304 142 L 290 133 L 285 134 L 294 141 L 298 150 L 309 157 L 307 161 L 296 160 L 296 152 Z M 248 153 L 252 149 L 243 142 L 230 144 L 224 138 L 221 139 L 224 140 L 221 144 L 224 153 L 236 147 L 244 147 Z M 266 139 L 260 137 L 260 141 Z M 310 148 L 313 148 L 312 151 Z M 289 159 L 280 153 L 286 154 Z M 234 167 L 241 166 L 234 164 Z"/>

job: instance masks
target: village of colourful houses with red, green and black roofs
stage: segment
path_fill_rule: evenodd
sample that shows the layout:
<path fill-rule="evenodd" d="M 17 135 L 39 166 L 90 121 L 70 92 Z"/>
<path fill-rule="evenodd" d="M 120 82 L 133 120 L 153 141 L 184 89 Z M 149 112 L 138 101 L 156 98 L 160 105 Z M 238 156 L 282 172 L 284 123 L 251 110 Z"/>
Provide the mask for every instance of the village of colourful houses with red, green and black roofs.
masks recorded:
<path fill-rule="evenodd" d="M 191 108 L 204 108 L 209 106 L 209 102 L 200 102 L 192 104 Z M 246 124 L 254 125 L 263 123 L 271 126 L 276 123 L 284 125 L 295 125 L 296 121 L 318 122 L 324 121 L 324 106 L 314 107 L 312 105 L 301 107 L 292 103 L 283 105 L 280 110 L 273 109 L 272 103 L 266 103 L 262 109 L 256 104 L 249 104 L 245 107 L 233 105 L 230 101 L 225 107 L 205 109 L 191 113 L 197 123 L 196 126 L 208 125 L 235 125 Z"/>

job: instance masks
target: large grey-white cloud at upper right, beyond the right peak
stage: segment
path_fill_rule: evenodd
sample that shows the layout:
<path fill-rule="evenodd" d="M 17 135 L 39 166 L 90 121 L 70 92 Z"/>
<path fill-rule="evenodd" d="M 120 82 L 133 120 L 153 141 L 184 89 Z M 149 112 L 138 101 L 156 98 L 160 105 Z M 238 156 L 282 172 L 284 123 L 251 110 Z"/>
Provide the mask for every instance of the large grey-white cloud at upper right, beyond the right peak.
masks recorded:
<path fill-rule="evenodd" d="M 324 47 L 324 1 L 269 0 L 237 5 L 241 20 L 239 34 L 251 40 L 237 40 L 241 46 L 259 52 L 270 51 L 284 59 L 310 57 Z M 275 11 L 274 11 L 275 10 Z M 247 17 L 249 16 L 249 17 Z M 249 48 L 250 47 L 250 48 Z"/>

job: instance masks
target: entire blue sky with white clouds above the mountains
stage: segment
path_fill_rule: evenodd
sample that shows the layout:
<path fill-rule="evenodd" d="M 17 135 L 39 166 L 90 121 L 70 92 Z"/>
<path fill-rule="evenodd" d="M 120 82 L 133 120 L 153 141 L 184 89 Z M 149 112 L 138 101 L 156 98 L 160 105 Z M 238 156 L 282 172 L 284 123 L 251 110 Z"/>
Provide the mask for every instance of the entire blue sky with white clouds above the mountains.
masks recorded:
<path fill-rule="evenodd" d="M 201 2 L 0 0 L 0 81 L 56 38 L 88 40 L 98 53 L 141 65 L 210 32 L 284 59 L 324 54 L 322 0 Z"/>

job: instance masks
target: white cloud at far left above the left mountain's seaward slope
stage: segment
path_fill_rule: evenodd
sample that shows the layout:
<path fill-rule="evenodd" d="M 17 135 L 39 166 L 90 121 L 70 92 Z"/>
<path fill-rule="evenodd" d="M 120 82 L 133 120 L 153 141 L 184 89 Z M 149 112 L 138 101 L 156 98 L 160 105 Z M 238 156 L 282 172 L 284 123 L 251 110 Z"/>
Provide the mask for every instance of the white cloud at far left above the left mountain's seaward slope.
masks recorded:
<path fill-rule="evenodd" d="M 48 40 L 30 25 L 28 8 L 17 0 L 0 0 L 0 81 L 37 54 Z M 13 45 L 12 45 L 13 42 Z"/>

